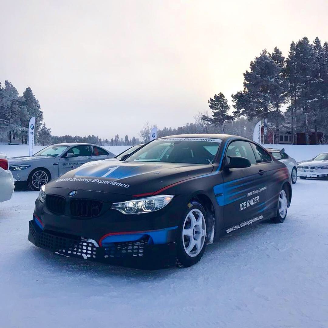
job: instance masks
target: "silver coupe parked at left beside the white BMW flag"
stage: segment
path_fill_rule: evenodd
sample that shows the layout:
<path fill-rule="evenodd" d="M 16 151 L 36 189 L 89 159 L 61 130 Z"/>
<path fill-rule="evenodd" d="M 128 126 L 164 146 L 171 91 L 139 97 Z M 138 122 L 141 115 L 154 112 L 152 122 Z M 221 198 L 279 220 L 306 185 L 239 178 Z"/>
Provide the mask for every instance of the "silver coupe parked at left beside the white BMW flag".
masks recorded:
<path fill-rule="evenodd" d="M 62 143 L 48 146 L 33 156 L 8 158 L 15 184 L 27 182 L 31 190 L 87 162 L 113 158 L 108 150 L 86 143 Z"/>

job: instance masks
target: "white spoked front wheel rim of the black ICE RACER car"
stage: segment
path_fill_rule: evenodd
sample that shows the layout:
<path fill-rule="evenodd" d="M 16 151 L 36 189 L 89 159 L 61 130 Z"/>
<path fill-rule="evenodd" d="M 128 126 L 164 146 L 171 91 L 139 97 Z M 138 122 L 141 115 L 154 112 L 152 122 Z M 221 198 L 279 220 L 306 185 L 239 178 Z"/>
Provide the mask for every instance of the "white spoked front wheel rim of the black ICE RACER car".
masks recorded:
<path fill-rule="evenodd" d="M 186 254 L 197 256 L 203 249 L 205 237 L 205 217 L 201 211 L 193 209 L 187 214 L 182 226 L 182 244 Z"/>

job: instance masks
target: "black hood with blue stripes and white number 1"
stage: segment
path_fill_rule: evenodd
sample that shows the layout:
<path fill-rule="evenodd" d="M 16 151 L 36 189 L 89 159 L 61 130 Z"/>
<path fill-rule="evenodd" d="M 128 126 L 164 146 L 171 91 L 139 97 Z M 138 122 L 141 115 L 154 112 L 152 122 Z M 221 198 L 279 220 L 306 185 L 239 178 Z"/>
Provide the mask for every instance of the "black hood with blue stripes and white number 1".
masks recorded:
<path fill-rule="evenodd" d="M 183 180 L 211 173 L 213 165 L 162 162 L 87 163 L 52 180 L 48 187 L 100 191 L 122 195 L 151 194 Z"/>

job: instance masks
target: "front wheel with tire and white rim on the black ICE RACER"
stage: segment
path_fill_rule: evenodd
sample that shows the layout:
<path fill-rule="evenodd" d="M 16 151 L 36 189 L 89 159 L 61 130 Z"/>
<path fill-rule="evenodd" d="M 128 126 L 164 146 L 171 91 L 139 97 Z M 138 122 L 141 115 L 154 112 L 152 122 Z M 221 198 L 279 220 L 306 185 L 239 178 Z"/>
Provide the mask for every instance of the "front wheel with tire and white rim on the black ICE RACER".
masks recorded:
<path fill-rule="evenodd" d="M 189 204 L 192 206 L 181 219 L 176 236 L 177 264 L 180 267 L 196 264 L 206 248 L 206 211 L 198 202 Z"/>

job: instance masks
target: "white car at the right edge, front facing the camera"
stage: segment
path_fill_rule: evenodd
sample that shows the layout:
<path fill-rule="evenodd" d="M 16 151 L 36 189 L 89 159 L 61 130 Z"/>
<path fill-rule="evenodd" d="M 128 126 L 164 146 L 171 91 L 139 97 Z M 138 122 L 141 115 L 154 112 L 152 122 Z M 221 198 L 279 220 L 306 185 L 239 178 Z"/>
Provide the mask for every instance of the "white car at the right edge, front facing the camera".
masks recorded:
<path fill-rule="evenodd" d="M 328 177 L 328 153 L 321 153 L 308 161 L 298 162 L 297 169 L 301 179 Z"/>

